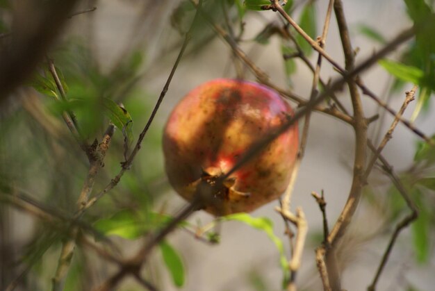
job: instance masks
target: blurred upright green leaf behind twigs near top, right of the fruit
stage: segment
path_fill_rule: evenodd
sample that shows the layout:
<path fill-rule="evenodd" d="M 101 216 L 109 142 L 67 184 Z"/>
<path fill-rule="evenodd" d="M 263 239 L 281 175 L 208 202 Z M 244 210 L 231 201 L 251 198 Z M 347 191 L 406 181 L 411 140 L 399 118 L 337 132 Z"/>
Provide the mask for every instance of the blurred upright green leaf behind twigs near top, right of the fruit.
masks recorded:
<path fill-rule="evenodd" d="M 316 14 L 315 14 L 315 4 L 309 2 L 304 6 L 302 10 L 301 18 L 299 19 L 299 26 L 308 34 L 313 40 L 316 38 Z M 301 47 L 302 51 L 306 56 L 310 56 L 313 50 L 311 49 L 311 44 L 306 42 L 306 40 L 299 33 L 296 35 L 296 42 Z"/>

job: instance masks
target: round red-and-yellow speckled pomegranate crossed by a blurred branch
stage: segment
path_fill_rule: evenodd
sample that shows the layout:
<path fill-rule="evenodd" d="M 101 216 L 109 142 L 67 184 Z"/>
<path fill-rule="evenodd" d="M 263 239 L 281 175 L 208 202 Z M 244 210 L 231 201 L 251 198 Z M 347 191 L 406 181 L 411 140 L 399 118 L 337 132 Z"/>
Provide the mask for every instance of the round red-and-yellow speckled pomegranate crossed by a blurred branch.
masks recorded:
<path fill-rule="evenodd" d="M 163 135 L 167 177 L 192 201 L 197 185 L 213 185 L 254 142 L 279 128 L 293 110 L 277 92 L 257 83 L 216 79 L 190 91 L 172 111 Z M 227 215 L 277 199 L 288 185 L 297 155 L 297 125 L 254 156 L 203 206 Z"/>

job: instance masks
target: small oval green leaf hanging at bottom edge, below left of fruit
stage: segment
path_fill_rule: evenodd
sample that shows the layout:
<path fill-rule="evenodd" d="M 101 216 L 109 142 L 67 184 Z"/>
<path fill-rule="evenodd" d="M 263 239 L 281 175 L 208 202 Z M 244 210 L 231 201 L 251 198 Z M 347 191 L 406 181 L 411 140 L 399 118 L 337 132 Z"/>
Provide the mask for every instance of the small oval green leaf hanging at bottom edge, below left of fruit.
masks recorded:
<path fill-rule="evenodd" d="M 164 240 L 158 244 L 162 252 L 163 261 L 167 267 L 167 270 L 172 276 L 172 281 L 177 287 L 182 287 L 184 285 L 184 266 L 183 260 L 177 251 Z"/>

